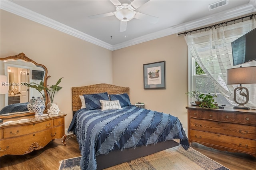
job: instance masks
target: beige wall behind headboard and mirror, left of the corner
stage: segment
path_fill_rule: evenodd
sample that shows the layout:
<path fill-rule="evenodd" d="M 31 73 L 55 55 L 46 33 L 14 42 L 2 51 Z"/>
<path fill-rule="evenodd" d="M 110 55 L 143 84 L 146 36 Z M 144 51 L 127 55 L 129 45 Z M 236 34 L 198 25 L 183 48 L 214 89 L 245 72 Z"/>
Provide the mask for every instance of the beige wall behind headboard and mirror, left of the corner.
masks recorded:
<path fill-rule="evenodd" d="M 112 51 L 1 10 L 1 52 L 8 57 L 23 52 L 48 69 L 48 85 L 60 77 L 63 88 L 54 101 L 72 119 L 71 87 L 112 84 Z M 2 69 L 2 68 L 1 68 Z M 2 99 L 2 98 L 1 98 Z"/>

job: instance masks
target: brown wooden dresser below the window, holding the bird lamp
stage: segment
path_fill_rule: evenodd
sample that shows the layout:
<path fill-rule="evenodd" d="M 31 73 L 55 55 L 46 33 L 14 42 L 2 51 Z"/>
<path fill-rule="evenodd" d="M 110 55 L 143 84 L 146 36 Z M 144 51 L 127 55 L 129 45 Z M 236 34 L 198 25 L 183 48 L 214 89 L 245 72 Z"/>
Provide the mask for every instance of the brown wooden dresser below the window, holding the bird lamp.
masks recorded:
<path fill-rule="evenodd" d="M 186 108 L 190 142 L 256 156 L 256 110 Z"/>

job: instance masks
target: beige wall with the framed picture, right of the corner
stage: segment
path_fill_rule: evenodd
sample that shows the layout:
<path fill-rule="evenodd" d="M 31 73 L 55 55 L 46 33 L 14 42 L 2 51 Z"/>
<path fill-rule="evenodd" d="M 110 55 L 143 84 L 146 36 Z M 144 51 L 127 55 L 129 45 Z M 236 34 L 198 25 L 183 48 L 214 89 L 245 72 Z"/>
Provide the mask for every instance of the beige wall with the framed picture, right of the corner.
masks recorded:
<path fill-rule="evenodd" d="M 187 128 L 188 54 L 183 37 L 158 38 L 113 51 L 113 84 L 130 87 L 130 100 L 170 113 Z M 143 64 L 166 61 L 166 89 L 144 89 Z"/>

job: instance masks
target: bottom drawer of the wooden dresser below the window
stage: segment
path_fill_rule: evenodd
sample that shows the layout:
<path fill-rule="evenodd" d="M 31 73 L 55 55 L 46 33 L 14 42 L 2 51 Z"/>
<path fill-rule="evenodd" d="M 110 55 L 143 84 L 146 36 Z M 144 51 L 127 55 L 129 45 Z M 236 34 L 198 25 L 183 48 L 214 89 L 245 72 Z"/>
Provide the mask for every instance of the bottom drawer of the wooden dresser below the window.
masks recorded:
<path fill-rule="evenodd" d="M 190 130 L 190 140 L 202 144 L 230 148 L 236 151 L 243 151 L 250 154 L 256 154 L 256 140 L 226 136 L 198 130 Z"/>

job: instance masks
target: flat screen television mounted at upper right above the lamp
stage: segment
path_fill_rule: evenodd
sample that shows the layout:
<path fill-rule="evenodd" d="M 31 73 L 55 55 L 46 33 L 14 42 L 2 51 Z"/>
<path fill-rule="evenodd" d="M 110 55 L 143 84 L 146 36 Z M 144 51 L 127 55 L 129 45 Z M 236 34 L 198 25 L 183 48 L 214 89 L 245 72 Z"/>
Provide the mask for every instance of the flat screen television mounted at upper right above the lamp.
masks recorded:
<path fill-rule="evenodd" d="M 233 64 L 256 60 L 256 28 L 231 43 Z"/>

